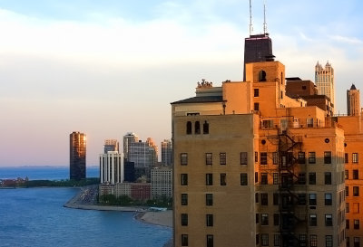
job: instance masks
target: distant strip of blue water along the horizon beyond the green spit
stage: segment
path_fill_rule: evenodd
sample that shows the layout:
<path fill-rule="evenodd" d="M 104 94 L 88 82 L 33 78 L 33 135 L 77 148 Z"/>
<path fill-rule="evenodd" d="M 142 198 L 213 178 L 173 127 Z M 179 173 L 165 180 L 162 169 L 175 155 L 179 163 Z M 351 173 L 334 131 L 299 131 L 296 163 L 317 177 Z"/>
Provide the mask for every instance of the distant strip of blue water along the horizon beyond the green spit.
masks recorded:
<path fill-rule="evenodd" d="M 30 180 L 47 179 L 47 180 L 62 180 L 69 179 L 68 166 L 15 166 L 15 167 L 0 167 L 0 179 L 5 178 L 25 178 Z M 86 167 L 87 177 L 100 177 L 100 169 L 98 166 Z"/>

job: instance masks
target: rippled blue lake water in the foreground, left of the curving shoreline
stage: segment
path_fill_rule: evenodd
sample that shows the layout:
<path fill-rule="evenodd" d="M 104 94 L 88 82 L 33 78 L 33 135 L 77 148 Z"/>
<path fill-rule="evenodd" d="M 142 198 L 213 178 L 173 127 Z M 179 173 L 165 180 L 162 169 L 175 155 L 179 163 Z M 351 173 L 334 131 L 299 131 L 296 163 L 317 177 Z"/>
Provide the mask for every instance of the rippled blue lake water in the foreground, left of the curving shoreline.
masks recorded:
<path fill-rule="evenodd" d="M 0 189 L 0 246 L 162 247 L 172 236 L 172 229 L 140 223 L 133 213 L 63 207 L 77 192 L 77 188 Z"/>

